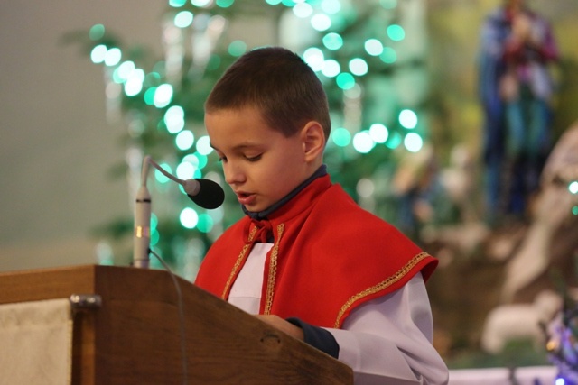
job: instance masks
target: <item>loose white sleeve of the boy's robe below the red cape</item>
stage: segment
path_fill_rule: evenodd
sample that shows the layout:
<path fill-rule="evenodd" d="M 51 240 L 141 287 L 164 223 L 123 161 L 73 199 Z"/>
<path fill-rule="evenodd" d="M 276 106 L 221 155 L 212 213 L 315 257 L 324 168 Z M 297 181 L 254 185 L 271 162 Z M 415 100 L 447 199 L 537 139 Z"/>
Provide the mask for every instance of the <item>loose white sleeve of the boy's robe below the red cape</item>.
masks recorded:
<path fill-rule="evenodd" d="M 355 308 L 342 329 L 326 328 L 356 385 L 443 385 L 448 370 L 432 344 L 432 311 L 421 273 L 402 288 Z"/>

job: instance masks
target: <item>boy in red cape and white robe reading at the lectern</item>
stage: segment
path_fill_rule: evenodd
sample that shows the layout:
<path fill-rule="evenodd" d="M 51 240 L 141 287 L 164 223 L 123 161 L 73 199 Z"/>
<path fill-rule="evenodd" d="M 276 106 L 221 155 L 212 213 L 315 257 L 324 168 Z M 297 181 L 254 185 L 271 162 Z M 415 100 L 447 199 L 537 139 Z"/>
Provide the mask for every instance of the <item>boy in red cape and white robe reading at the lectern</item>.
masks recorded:
<path fill-rule="evenodd" d="M 331 184 L 321 82 L 283 48 L 247 52 L 219 79 L 205 125 L 247 214 L 195 283 L 349 364 L 356 384 L 443 384 L 426 280 L 437 260 Z"/>

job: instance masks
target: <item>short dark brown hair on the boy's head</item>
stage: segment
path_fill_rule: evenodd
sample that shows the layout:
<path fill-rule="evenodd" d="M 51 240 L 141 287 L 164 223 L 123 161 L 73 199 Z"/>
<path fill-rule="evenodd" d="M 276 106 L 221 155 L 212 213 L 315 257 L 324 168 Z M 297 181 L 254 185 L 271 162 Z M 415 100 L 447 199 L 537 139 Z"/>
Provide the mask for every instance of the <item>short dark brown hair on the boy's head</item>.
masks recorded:
<path fill-rule="evenodd" d="M 321 81 L 290 50 L 266 47 L 241 56 L 213 87 L 205 111 L 247 106 L 258 108 L 266 124 L 287 137 L 312 120 L 329 137 L 329 106 Z"/>

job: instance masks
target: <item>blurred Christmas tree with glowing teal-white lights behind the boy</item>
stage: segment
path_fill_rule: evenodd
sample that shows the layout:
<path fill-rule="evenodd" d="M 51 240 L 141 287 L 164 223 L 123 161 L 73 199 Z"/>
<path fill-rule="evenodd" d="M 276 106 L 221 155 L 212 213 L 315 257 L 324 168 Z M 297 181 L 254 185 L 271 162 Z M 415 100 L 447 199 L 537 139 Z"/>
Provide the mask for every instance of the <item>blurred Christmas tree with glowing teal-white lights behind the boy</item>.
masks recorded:
<path fill-rule="evenodd" d="M 424 12 L 423 0 L 169 0 L 162 58 L 124 46 L 102 24 L 70 38 L 102 65 L 108 114 L 126 123 L 126 164 L 117 175 L 126 176 L 133 195 L 145 155 L 180 179 L 224 186 L 204 132 L 203 102 L 244 52 L 284 45 L 318 73 L 328 94 L 332 131 L 325 162 L 333 181 L 361 206 L 403 227 L 407 213 L 399 202 L 410 196 L 404 192 L 400 200 L 387 185 L 399 154 L 417 154 L 428 140 Z M 274 33 L 247 42 L 235 30 L 247 17 L 268 23 Z M 149 188 L 151 247 L 192 280 L 210 243 L 242 215 L 238 203 L 227 195 L 217 209 L 194 206 L 158 171 Z M 132 232 L 133 218 L 126 218 L 99 234 L 118 241 Z M 114 262 L 130 261 L 131 251 L 121 254 Z"/>

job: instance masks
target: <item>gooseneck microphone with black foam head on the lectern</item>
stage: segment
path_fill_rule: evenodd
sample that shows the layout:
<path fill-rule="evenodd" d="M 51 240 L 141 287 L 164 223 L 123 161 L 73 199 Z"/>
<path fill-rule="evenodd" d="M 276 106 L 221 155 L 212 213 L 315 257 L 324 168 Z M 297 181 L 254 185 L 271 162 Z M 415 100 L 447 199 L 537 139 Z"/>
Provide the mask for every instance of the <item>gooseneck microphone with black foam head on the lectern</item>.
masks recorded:
<path fill-rule="evenodd" d="M 151 244 L 151 194 L 146 187 L 149 165 L 161 171 L 184 188 L 185 193 L 197 205 L 213 209 L 221 206 L 225 200 L 225 191 L 219 183 L 210 179 L 178 179 L 146 155 L 141 170 L 141 186 L 135 197 L 135 234 L 133 235 L 133 265 L 137 268 L 148 268 L 149 246 Z"/>

